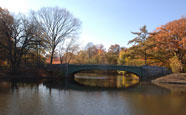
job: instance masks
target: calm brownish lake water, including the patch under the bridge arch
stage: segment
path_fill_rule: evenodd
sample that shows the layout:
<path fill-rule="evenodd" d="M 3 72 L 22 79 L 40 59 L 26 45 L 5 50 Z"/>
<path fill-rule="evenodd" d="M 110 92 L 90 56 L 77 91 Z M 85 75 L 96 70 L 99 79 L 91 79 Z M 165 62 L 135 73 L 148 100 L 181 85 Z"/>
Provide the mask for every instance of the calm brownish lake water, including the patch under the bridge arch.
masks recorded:
<path fill-rule="evenodd" d="M 87 80 L 83 77 L 91 78 Z M 0 115 L 186 114 L 184 91 L 175 93 L 165 86 L 138 83 L 136 79 L 121 76 L 97 78 L 97 86 L 96 77 L 90 75 L 77 76 L 79 83 L 67 79 L 32 82 L 1 80 Z"/>

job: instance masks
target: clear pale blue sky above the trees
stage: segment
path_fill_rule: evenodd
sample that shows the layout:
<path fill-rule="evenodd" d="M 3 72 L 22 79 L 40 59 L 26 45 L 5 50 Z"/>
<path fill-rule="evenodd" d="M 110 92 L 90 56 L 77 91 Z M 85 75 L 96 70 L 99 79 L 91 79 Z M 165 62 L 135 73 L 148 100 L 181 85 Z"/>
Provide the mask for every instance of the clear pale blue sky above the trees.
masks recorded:
<path fill-rule="evenodd" d="M 143 25 L 149 32 L 186 16 L 186 0 L 0 0 L 0 7 L 27 13 L 41 7 L 66 8 L 82 22 L 79 40 L 105 48 L 128 41 Z"/>

